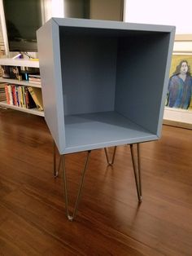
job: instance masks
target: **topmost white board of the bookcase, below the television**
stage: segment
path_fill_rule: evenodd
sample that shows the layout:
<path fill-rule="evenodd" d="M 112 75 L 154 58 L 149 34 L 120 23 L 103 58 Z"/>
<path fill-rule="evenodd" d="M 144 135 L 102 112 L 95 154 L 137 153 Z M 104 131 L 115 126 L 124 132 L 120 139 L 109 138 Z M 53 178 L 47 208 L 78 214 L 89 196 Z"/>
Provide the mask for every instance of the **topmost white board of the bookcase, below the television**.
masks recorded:
<path fill-rule="evenodd" d="M 39 62 L 37 60 L 15 60 L 9 58 L 1 58 L 0 65 L 39 68 Z"/>

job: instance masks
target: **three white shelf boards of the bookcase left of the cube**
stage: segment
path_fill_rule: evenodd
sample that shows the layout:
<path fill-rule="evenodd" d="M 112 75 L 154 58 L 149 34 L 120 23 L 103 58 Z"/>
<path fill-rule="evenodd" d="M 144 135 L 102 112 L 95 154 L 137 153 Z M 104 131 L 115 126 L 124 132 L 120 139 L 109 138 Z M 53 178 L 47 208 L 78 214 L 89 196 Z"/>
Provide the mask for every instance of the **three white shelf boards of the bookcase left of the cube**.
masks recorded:
<path fill-rule="evenodd" d="M 15 60 L 15 59 L 2 58 L 0 59 L 0 65 L 39 68 L 39 62 L 37 60 L 22 60 L 22 59 Z M 32 86 L 32 87 L 41 88 L 41 85 L 36 83 L 32 83 L 28 81 L 19 81 L 19 80 L 10 79 L 10 78 L 0 77 L 0 82 L 12 84 L 12 85 Z M 44 117 L 44 112 L 39 111 L 37 108 L 29 108 L 29 109 L 21 108 L 15 105 L 7 104 L 7 101 L 0 101 L 0 106 L 2 106 L 3 108 L 12 108 L 25 113 L 31 113 L 37 116 Z"/>

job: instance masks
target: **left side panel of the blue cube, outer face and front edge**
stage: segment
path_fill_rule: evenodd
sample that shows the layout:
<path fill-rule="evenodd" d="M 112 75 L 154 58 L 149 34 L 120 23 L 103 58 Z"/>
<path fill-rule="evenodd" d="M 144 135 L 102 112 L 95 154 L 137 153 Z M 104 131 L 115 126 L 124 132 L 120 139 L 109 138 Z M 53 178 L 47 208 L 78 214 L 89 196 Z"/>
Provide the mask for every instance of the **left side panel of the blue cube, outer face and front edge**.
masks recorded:
<path fill-rule="evenodd" d="M 59 26 L 49 20 L 37 30 L 45 119 L 59 152 L 65 148 L 63 91 L 60 68 Z"/>

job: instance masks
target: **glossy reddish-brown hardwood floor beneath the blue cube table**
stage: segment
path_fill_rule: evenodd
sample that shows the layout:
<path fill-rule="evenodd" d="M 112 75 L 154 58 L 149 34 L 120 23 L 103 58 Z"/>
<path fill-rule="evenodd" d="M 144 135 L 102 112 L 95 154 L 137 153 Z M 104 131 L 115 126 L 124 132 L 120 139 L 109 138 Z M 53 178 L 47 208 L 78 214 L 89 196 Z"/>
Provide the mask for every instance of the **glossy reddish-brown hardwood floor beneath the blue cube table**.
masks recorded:
<path fill-rule="evenodd" d="M 129 146 L 113 167 L 91 152 L 74 222 L 54 179 L 43 117 L 0 110 L 0 255 L 192 255 L 192 130 L 164 126 L 142 143 L 143 201 L 137 203 Z M 85 152 L 67 156 L 70 209 Z"/>

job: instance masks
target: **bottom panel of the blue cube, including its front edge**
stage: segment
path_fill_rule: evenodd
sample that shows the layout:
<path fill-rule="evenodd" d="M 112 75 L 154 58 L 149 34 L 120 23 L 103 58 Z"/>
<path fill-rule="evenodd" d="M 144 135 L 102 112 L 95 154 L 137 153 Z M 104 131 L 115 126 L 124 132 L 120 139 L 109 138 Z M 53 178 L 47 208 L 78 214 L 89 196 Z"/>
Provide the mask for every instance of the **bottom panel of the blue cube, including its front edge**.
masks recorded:
<path fill-rule="evenodd" d="M 66 116 L 65 135 L 63 153 L 158 139 L 157 135 L 116 112 Z"/>

